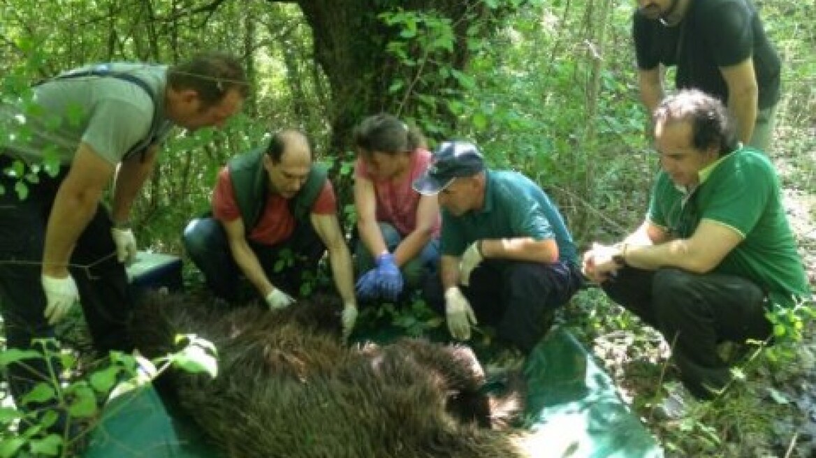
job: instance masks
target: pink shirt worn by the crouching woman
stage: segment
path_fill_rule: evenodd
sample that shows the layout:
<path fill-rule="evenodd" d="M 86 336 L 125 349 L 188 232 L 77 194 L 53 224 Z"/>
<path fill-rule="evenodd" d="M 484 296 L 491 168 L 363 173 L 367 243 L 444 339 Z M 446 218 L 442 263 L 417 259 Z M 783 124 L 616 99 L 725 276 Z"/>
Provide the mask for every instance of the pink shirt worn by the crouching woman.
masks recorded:
<path fill-rule="evenodd" d="M 419 199 L 422 197 L 419 192 L 414 191 L 411 183 L 419 178 L 428 168 L 431 162 L 431 153 L 426 149 L 417 149 L 410 155 L 409 172 L 399 181 L 392 179 L 376 179 L 371 176 L 366 162 L 357 159 L 354 166 L 355 178 L 366 178 L 374 185 L 376 197 L 376 217 L 379 222 L 388 222 L 402 236 L 407 236 L 416 227 L 416 209 L 419 206 Z M 434 224 L 434 236 L 439 236 L 441 219 L 437 216 Z"/>

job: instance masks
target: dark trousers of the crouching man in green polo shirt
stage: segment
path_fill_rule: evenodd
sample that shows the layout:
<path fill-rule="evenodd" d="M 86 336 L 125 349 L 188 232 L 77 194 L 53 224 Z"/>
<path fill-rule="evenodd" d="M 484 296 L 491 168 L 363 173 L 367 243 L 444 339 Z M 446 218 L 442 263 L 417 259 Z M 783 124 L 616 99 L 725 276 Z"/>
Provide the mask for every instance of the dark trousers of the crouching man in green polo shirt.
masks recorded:
<path fill-rule="evenodd" d="M 673 344 L 672 359 L 684 385 L 703 399 L 730 381 L 718 343 L 765 340 L 772 331 L 765 293 L 742 277 L 626 267 L 601 287 Z"/>

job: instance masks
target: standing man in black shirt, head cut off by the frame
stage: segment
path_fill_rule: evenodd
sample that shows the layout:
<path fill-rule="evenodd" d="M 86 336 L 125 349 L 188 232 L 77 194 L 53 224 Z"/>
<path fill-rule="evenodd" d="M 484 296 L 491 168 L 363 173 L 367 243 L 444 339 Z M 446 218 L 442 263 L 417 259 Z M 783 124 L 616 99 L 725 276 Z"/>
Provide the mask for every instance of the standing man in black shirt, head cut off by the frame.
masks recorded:
<path fill-rule="evenodd" d="M 725 103 L 739 139 L 769 151 L 779 99 L 779 57 L 750 0 L 637 0 L 632 35 L 645 108 L 663 99 L 665 67 L 678 89 Z"/>

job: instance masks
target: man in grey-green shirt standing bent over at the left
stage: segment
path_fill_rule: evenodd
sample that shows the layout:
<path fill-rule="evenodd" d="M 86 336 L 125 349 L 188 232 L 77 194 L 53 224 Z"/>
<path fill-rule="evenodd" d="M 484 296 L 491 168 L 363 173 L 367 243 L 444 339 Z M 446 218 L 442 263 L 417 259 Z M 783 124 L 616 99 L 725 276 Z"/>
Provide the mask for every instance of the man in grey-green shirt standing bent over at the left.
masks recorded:
<path fill-rule="evenodd" d="M 0 104 L 0 311 L 9 348 L 53 337 L 81 302 L 96 350 L 131 350 L 124 263 L 136 252 L 133 200 L 172 126 L 221 126 L 247 93 L 239 60 L 207 54 L 170 67 L 78 68 L 34 86 L 30 99 Z M 100 200 L 112 178 L 109 214 Z M 20 405 L 48 380 L 46 361 L 8 369 L 18 406 L 55 407 Z M 60 435 L 61 423 L 52 427 Z"/>

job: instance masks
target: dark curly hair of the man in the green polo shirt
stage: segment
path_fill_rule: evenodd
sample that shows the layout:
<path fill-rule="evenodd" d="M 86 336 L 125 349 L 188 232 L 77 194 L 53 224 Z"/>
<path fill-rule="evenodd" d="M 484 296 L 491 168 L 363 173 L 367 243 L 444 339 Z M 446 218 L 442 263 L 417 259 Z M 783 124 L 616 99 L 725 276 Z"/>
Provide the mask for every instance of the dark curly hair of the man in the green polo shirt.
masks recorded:
<path fill-rule="evenodd" d="M 699 150 L 715 147 L 720 156 L 737 149 L 738 139 L 728 109 L 725 105 L 702 90 L 681 90 L 669 95 L 654 109 L 654 125 L 689 121 L 692 130 L 692 146 Z"/>

